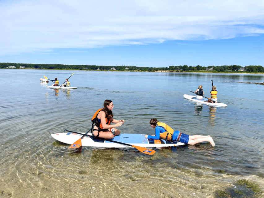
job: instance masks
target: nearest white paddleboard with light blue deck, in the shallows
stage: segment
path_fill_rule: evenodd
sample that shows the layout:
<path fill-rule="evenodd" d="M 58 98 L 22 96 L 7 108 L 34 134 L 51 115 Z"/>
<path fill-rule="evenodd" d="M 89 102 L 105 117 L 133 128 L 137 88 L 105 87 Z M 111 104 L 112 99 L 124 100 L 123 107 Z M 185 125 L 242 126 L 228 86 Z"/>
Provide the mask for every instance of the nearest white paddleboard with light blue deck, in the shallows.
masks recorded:
<path fill-rule="evenodd" d="M 85 133 L 82 133 L 85 134 Z M 88 133 L 87 135 L 92 136 L 92 133 Z M 74 132 L 68 133 L 54 133 L 51 136 L 60 142 L 65 144 L 73 144 L 77 140 L 79 140 L 82 135 L 76 134 Z M 122 142 L 125 144 L 132 144 L 134 146 L 140 146 L 145 148 L 162 148 L 162 147 L 171 147 L 171 146 L 181 146 L 185 145 L 181 142 L 170 142 L 166 140 L 148 140 L 145 138 L 144 134 L 130 134 L 130 133 L 121 133 L 119 136 L 115 136 L 111 140 Z M 97 139 L 96 137 L 88 137 L 84 136 L 82 141 L 82 146 L 89 146 L 89 147 L 98 147 L 98 148 L 132 148 L 131 146 L 118 144 L 115 142 L 110 142 L 105 139 Z"/>

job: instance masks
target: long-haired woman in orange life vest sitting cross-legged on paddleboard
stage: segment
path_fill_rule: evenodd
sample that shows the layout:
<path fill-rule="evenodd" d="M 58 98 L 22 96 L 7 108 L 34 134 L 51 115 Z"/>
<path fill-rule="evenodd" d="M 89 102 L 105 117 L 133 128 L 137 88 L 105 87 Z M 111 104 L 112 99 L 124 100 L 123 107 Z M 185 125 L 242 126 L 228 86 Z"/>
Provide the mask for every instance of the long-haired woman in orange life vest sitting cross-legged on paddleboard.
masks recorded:
<path fill-rule="evenodd" d="M 113 102 L 110 100 L 104 101 L 104 108 L 99 109 L 95 112 L 92 118 L 94 123 L 93 135 L 104 139 L 112 139 L 114 136 L 118 136 L 120 131 L 113 127 L 121 126 L 124 120 L 115 120 L 113 118 Z M 115 123 L 114 125 L 110 125 Z"/>

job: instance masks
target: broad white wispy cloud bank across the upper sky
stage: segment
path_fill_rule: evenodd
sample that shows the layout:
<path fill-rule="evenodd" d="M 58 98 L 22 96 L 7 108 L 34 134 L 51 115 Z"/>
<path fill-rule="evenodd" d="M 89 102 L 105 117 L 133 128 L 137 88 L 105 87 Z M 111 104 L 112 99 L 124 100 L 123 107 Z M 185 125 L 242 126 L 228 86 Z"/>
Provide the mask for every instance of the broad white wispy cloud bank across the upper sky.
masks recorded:
<path fill-rule="evenodd" d="M 264 33 L 263 0 L 0 2 L 0 55 Z"/>

